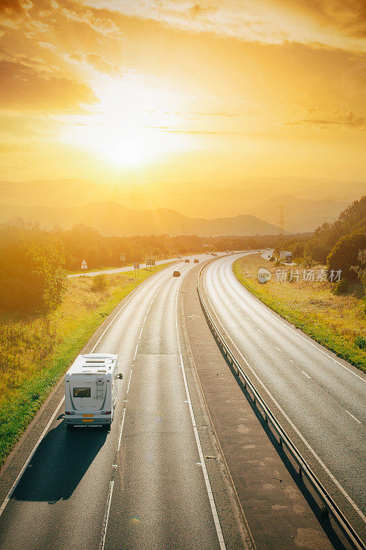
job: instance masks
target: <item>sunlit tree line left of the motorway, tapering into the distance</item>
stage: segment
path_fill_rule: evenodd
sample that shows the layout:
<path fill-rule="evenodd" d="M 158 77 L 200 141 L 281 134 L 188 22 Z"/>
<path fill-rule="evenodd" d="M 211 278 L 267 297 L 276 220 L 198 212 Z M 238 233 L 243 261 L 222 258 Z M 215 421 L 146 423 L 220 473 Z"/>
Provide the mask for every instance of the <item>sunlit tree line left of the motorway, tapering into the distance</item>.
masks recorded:
<path fill-rule="evenodd" d="M 0 225 L 0 310 L 48 311 L 62 300 L 67 270 L 118 267 L 147 259 L 207 250 L 244 250 L 275 246 L 278 236 L 196 235 L 103 236 L 86 225 L 45 231 L 21 219 Z M 121 254 L 126 260 L 121 262 Z"/>

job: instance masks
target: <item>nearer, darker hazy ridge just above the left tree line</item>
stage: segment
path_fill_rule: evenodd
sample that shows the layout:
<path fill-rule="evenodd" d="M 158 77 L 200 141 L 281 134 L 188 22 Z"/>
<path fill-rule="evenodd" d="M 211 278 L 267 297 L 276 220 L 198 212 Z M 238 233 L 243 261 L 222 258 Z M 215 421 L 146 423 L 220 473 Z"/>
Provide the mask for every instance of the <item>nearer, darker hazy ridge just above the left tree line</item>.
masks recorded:
<path fill-rule="evenodd" d="M 54 227 L 55 223 L 65 229 L 71 228 L 76 223 L 84 223 L 100 230 L 103 234 L 121 236 L 162 233 L 172 236 L 183 233 L 198 236 L 278 233 L 275 225 L 248 214 L 210 220 L 186 217 L 165 208 L 133 210 L 112 201 L 100 201 L 71 208 L 0 205 L 1 222 L 14 217 L 38 221 L 47 229 Z"/>

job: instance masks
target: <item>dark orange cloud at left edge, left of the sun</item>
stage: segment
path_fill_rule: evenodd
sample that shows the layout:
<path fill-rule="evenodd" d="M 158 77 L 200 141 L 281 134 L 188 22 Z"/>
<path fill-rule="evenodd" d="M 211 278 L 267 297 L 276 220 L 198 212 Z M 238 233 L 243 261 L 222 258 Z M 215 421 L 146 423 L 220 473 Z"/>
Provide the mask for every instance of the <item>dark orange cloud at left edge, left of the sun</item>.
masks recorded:
<path fill-rule="evenodd" d="M 0 60 L 0 103 L 21 111 L 80 111 L 95 103 L 93 91 L 75 78 L 52 76 L 21 61 Z"/>

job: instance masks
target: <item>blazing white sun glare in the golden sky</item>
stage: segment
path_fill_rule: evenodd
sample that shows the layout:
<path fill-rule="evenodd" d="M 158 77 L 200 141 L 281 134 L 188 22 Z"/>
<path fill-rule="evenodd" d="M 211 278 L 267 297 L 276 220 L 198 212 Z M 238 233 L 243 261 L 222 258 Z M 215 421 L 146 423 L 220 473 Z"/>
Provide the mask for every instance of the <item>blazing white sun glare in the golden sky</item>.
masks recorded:
<path fill-rule="evenodd" d="M 94 113 L 62 122 L 61 139 L 117 166 L 159 162 L 190 147 L 189 136 L 170 132 L 179 97 L 146 87 L 144 80 L 102 80 Z M 175 120 L 173 120 L 175 118 Z"/>

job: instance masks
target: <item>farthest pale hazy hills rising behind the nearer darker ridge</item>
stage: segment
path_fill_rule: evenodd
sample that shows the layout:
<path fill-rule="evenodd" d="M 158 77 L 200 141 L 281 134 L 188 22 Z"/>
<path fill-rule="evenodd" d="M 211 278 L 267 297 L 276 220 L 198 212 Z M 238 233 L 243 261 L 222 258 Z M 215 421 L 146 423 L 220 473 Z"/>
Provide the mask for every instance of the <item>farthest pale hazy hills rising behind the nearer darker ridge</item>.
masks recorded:
<path fill-rule="evenodd" d="M 295 177 L 243 179 L 226 188 L 189 188 L 179 183 L 130 185 L 128 182 L 113 186 L 87 179 L 41 179 L 20 183 L 0 181 L 0 203 L 69 208 L 112 201 L 135 210 L 165 208 L 200 219 L 251 214 L 271 224 L 277 223 L 277 206 L 282 204 L 286 207 L 288 231 L 311 232 L 324 221 L 332 223 L 365 188 L 366 184 L 347 184 L 343 188 L 334 184 L 333 197 L 326 197 L 320 181 Z"/>

